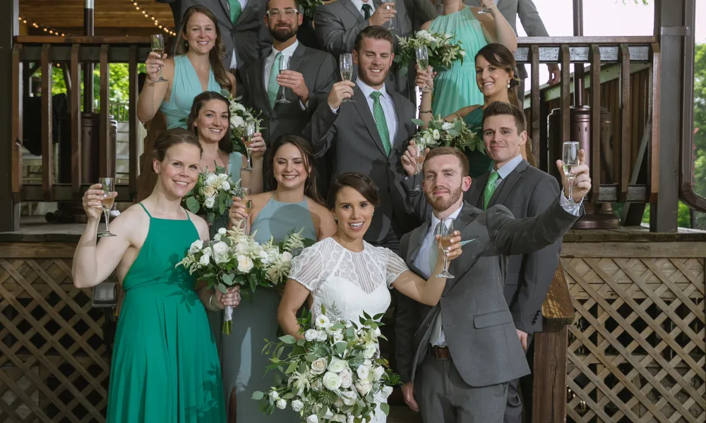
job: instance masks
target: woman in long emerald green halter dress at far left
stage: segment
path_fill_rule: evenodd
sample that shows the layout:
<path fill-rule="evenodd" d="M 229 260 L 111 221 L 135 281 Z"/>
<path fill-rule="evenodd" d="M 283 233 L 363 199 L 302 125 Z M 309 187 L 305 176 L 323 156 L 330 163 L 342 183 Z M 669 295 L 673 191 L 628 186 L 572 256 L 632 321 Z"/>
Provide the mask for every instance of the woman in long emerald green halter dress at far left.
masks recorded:
<path fill-rule="evenodd" d="M 237 295 L 203 287 L 183 267 L 208 226 L 181 207 L 198 178 L 201 145 L 191 131 L 155 141 L 152 194 L 110 224 L 96 243 L 100 184 L 83 196 L 88 225 L 73 256 L 73 284 L 91 288 L 115 270 L 125 298 L 115 334 L 107 423 L 225 423 L 220 362 L 205 307 L 237 305 Z M 113 197 L 116 193 L 112 193 Z"/>

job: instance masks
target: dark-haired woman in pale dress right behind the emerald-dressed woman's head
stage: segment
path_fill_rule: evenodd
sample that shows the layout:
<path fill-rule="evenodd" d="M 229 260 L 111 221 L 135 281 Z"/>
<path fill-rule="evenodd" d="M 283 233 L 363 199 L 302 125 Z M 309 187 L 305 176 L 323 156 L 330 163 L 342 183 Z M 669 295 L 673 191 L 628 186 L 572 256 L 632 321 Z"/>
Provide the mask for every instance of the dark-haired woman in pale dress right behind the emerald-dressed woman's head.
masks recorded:
<path fill-rule="evenodd" d="M 233 144 L 229 137 L 229 111 L 228 99 L 213 91 L 198 94 L 193 99 L 191 112 L 187 119 L 187 126 L 198 136 L 198 143 L 203 148 L 199 168 L 202 172 L 215 171 L 215 166 L 226 168 L 233 182 L 240 180 L 240 186 L 249 187 L 251 192 L 263 190 L 263 156 L 265 155 L 265 142 L 261 133 L 253 137 L 252 165 L 253 171 L 243 170 L 246 160 L 239 152 L 233 151 Z M 213 224 L 208 226 L 210 239 L 218 229 L 228 226 L 228 209 L 216 216 Z M 208 321 L 215 336 L 216 346 L 220 351 L 223 316 L 220 310 L 208 310 Z"/>

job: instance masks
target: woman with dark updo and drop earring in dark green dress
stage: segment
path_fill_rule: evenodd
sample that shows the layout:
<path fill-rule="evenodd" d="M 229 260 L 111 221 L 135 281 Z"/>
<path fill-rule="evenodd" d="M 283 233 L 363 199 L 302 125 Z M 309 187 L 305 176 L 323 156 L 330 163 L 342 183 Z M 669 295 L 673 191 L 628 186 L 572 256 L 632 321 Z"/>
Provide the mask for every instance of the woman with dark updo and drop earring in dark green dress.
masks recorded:
<path fill-rule="evenodd" d="M 479 90 L 483 93 L 483 104 L 472 104 L 462 107 L 453 113 L 445 116 L 445 121 L 453 121 L 455 119 L 463 119 L 470 130 L 479 137 L 483 137 L 483 109 L 486 104 L 492 102 L 505 102 L 518 104 L 517 102 L 517 86 L 520 81 L 515 78 L 515 57 L 507 47 L 502 44 L 488 44 L 478 51 L 475 56 L 476 74 L 475 81 Z M 436 80 L 433 78 L 431 67 L 426 72 L 417 72 L 417 85 L 423 87 L 426 83 L 430 87 L 433 86 Z M 431 114 L 424 113 L 431 107 L 431 94 L 422 92 L 421 94 L 421 112 L 420 118 L 425 123 L 431 119 Z M 530 142 L 527 142 L 527 148 L 530 148 Z M 469 174 L 471 178 L 477 178 L 490 171 L 493 161 L 484 153 L 477 150 L 466 151 L 466 156 L 469 161 Z M 522 158 L 527 159 L 527 152 L 522 150 Z M 530 154 L 532 159 L 532 154 Z M 534 165 L 533 161 L 530 164 Z"/>

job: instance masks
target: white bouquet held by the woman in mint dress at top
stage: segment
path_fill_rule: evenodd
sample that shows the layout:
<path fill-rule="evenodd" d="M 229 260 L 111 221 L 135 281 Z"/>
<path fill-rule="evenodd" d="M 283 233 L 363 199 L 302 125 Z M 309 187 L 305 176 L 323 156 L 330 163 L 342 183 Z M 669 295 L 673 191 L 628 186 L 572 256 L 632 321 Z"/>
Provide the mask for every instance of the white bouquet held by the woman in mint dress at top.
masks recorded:
<path fill-rule="evenodd" d="M 397 42 L 395 63 L 400 63 L 400 72 L 406 73 L 409 63 L 417 61 L 417 47 L 426 46 L 431 68 L 450 69 L 453 62 L 457 60 L 463 63 L 466 52 L 462 49 L 461 44 L 453 34 L 426 30 L 417 31 L 414 37 L 401 37 Z"/>

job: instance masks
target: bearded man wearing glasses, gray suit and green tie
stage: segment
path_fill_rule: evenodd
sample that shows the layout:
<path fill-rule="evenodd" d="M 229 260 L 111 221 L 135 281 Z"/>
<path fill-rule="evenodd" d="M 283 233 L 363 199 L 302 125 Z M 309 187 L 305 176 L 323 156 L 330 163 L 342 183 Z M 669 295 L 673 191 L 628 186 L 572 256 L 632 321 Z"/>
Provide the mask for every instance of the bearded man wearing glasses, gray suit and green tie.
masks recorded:
<path fill-rule="evenodd" d="M 297 0 L 269 0 L 265 26 L 273 44 L 261 59 L 242 69 L 243 103 L 262 111 L 263 137 L 270 145 L 282 134 L 299 134 L 311 120 L 321 99 L 325 102 L 334 82 L 337 66 L 333 56 L 310 49 L 297 39 L 302 22 Z M 289 56 L 289 70 L 279 73 L 279 63 Z M 277 103 L 285 92 L 289 103 Z M 265 160 L 263 177 L 268 181 L 270 162 Z M 316 171 L 325 176 L 325 162 L 316 163 Z M 273 187 L 270 187 L 273 188 Z"/>

